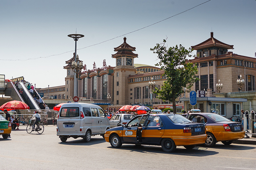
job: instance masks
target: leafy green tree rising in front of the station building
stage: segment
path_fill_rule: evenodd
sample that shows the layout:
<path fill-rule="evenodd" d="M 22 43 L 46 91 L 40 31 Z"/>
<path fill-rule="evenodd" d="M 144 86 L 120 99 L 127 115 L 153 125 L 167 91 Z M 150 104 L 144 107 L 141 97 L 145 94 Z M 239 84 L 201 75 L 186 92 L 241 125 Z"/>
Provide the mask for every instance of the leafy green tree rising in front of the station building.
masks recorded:
<path fill-rule="evenodd" d="M 176 113 L 176 99 L 180 94 L 184 93 L 184 88 L 190 90 L 194 82 L 199 80 L 196 78 L 198 73 L 197 66 L 193 67 L 193 63 L 186 63 L 186 57 L 192 57 L 193 49 L 185 49 L 181 44 L 167 49 L 164 43 L 156 44 L 150 50 L 157 54 L 160 61 L 155 64 L 165 71 L 163 76 L 166 80 L 160 89 L 155 89 L 154 93 L 159 99 L 172 102 L 173 113 Z"/>

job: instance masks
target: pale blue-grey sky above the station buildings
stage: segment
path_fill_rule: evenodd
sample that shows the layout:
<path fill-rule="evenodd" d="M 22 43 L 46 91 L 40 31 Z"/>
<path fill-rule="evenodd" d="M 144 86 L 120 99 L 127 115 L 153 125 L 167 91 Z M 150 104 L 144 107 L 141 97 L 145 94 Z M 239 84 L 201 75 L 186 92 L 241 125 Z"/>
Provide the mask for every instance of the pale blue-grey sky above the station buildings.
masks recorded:
<path fill-rule="evenodd" d="M 77 54 L 87 69 L 94 62 L 102 67 L 104 59 L 115 67 L 111 55 L 124 37 L 136 47 L 135 64 L 154 66 L 157 54 L 150 48 L 166 38 L 169 47 L 190 48 L 211 32 L 234 45 L 229 51 L 254 57 L 255 9 L 256 0 L 1 0 L 0 74 L 6 79 L 23 76 L 39 88 L 65 85 L 63 66 L 75 51 L 75 41 L 67 35 L 73 33 L 84 35 L 77 41 Z"/>

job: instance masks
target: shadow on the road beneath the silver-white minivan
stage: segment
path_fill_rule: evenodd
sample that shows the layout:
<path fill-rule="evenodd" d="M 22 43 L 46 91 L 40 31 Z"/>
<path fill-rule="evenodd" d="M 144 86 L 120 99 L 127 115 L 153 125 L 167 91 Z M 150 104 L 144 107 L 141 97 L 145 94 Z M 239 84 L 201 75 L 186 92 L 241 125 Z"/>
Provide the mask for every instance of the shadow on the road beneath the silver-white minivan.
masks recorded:
<path fill-rule="evenodd" d="M 74 139 L 74 138 L 71 138 L 71 139 Z M 67 140 L 66 142 L 59 142 L 59 144 L 90 146 L 90 145 L 95 145 L 95 144 L 104 143 L 104 142 L 106 142 L 105 139 L 103 137 L 99 137 L 99 138 L 91 138 L 90 142 L 86 142 L 82 138 L 77 138 L 77 139 L 72 140 L 72 141 Z"/>

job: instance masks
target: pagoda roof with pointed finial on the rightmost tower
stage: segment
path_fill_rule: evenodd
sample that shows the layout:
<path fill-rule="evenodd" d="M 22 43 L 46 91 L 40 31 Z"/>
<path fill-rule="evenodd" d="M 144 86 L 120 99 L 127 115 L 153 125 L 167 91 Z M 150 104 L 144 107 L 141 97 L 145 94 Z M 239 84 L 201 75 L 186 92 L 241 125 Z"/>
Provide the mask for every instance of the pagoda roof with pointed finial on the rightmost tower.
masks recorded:
<path fill-rule="evenodd" d="M 225 49 L 234 49 L 233 45 L 225 44 L 216 38 L 213 37 L 213 32 L 211 32 L 211 37 L 207 39 L 206 41 L 197 44 L 195 46 L 191 46 L 192 49 L 198 50 L 198 49 L 204 49 L 204 48 L 209 48 L 209 47 L 220 47 L 220 48 L 225 48 Z"/>

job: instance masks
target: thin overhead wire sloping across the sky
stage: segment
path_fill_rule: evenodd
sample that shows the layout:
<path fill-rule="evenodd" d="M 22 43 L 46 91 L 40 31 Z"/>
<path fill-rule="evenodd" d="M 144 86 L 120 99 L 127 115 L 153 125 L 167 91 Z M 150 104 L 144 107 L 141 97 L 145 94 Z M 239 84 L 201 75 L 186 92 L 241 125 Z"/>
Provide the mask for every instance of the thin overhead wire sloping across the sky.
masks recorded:
<path fill-rule="evenodd" d="M 124 35 L 128 35 L 128 34 L 130 34 L 130 33 L 134 33 L 134 32 L 137 32 L 137 31 L 139 31 L 139 30 L 145 29 L 145 28 L 147 28 L 147 27 L 150 27 L 150 26 L 152 26 L 152 25 L 158 24 L 158 23 L 163 22 L 163 21 L 165 21 L 165 20 L 167 20 L 167 19 L 170 19 L 170 18 L 172 18 L 172 17 L 175 17 L 175 16 L 180 15 L 180 14 L 182 14 L 182 13 L 185 13 L 185 12 L 187 12 L 187 11 L 190 11 L 190 10 L 192 10 L 192 9 L 194 9 L 194 8 L 200 6 L 200 5 L 203 5 L 204 3 L 207 3 L 207 2 L 209 2 L 209 1 L 211 1 L 211 0 L 208 0 L 208 1 L 206 1 L 206 2 L 200 3 L 199 5 L 196 5 L 196 6 L 192 7 L 192 8 L 189 8 L 188 10 L 185 10 L 185 11 L 183 11 L 183 12 L 180 12 L 180 13 L 178 13 L 178 14 L 175 14 L 175 15 L 173 15 L 173 16 L 170 16 L 170 17 L 168 17 L 168 18 L 165 18 L 165 19 L 163 19 L 163 20 L 161 20 L 161 21 L 155 22 L 154 24 L 147 25 L 146 27 L 143 27 L 143 28 L 141 28 L 141 29 L 134 30 L 134 31 L 129 32 L 129 33 L 125 33 L 125 34 L 120 35 L 120 36 L 117 36 L 117 37 L 115 37 L 115 38 L 111 38 L 111 39 L 109 39 L 109 40 L 102 41 L 102 42 L 97 43 L 97 44 L 93 44 L 93 45 L 90 45 L 90 46 L 86 46 L 86 47 L 84 47 L 84 48 L 88 48 L 88 47 L 91 47 L 91 46 L 96 46 L 96 45 L 98 45 L 98 44 L 102 44 L 102 43 L 105 43 L 105 42 L 107 42 L 107 41 L 111 41 L 111 40 L 114 40 L 114 39 L 116 39 L 116 38 L 123 37 Z M 79 48 L 79 49 L 84 49 L 84 48 Z M 79 50 L 79 49 L 77 49 L 77 50 Z M 65 54 L 65 53 L 68 53 L 68 52 L 73 52 L 73 51 L 74 51 L 74 50 L 72 50 L 72 51 L 66 51 L 66 52 L 63 52 L 63 53 L 60 53 L 60 54 L 53 54 L 53 55 L 51 55 L 51 56 L 46 56 L 46 57 L 37 57 L 37 58 L 33 58 L 33 59 L 24 59 L 24 60 L 17 59 L 17 60 L 5 60 L 5 61 L 36 60 L 36 59 L 41 59 L 41 58 L 49 58 L 49 57 L 52 57 L 52 56 L 60 56 L 60 55 L 62 55 L 62 54 Z M 4 60 L 4 59 L 0 59 L 0 60 Z"/>

